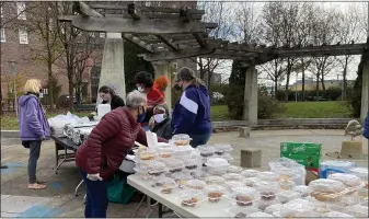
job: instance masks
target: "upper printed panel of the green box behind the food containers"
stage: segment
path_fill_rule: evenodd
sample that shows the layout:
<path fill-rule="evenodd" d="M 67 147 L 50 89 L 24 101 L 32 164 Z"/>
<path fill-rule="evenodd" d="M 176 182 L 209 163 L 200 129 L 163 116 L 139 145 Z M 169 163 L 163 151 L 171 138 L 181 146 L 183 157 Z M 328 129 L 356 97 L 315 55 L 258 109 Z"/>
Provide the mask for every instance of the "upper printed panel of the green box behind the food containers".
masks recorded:
<path fill-rule="evenodd" d="M 281 142 L 280 154 L 308 154 L 308 155 L 321 155 L 321 143 L 308 143 L 308 142 Z"/>

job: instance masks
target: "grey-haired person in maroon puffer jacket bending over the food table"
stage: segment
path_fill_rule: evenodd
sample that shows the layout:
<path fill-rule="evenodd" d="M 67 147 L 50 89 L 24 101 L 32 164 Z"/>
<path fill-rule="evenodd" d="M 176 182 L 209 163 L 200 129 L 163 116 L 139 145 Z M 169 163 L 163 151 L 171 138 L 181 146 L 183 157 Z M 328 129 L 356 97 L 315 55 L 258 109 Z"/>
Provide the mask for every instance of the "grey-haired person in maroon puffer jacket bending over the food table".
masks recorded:
<path fill-rule="evenodd" d="M 87 218 L 106 218 L 107 181 L 135 141 L 147 146 L 146 132 L 140 126 L 146 116 L 146 95 L 139 91 L 130 92 L 127 105 L 107 113 L 78 148 L 76 164 L 87 185 Z M 166 142 L 162 138 L 158 140 Z"/>

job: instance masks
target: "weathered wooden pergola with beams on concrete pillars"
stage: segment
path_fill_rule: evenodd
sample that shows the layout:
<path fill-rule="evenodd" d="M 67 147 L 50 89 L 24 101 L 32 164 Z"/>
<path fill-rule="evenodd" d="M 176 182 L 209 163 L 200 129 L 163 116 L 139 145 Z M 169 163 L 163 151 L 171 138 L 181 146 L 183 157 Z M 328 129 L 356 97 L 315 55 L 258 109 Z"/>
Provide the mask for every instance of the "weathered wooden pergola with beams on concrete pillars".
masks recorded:
<path fill-rule="evenodd" d="M 80 30 L 107 33 L 105 39 L 100 85 L 114 85 L 125 96 L 124 45 L 131 42 L 145 49 L 140 56 L 152 61 L 155 77 L 165 74 L 171 78 L 169 62 L 191 57 L 241 60 L 246 70 L 243 118 L 251 125 L 257 124 L 257 73 L 256 65 L 276 58 L 324 57 L 366 54 L 362 76 L 361 118 L 366 116 L 369 99 L 369 55 L 368 44 L 322 45 L 309 47 L 266 47 L 229 43 L 209 36 L 216 23 L 201 22 L 204 10 L 191 8 L 137 7 L 126 4 L 85 4 L 74 2 L 78 14 L 59 18 L 61 22 L 71 22 Z M 118 33 L 114 34 L 111 33 Z M 112 84 L 113 82 L 113 84 Z M 117 83 L 117 84 L 114 84 Z M 171 105 L 170 89 L 166 101 Z"/>

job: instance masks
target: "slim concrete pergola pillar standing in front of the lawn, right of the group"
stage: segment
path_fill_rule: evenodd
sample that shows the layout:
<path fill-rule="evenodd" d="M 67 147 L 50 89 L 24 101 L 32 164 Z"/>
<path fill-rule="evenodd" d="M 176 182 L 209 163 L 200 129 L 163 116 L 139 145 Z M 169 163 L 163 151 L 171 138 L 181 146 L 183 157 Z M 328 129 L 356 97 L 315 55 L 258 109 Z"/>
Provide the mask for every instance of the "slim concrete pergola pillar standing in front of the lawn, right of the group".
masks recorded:
<path fill-rule="evenodd" d="M 244 89 L 243 119 L 250 125 L 257 125 L 257 72 L 255 66 L 250 66 Z"/>

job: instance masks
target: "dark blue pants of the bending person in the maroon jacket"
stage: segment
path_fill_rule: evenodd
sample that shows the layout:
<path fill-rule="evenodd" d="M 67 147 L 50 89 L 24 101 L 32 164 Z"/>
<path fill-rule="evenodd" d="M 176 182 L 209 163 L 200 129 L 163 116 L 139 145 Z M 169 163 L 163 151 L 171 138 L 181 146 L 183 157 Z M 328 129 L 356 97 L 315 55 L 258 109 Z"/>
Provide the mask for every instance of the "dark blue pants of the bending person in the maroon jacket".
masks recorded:
<path fill-rule="evenodd" d="M 88 174 L 80 169 L 83 177 L 87 199 L 84 207 L 85 218 L 106 218 L 107 210 L 107 183 L 105 181 L 90 181 Z"/>

